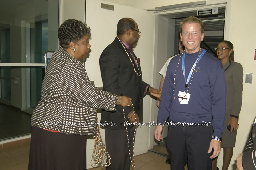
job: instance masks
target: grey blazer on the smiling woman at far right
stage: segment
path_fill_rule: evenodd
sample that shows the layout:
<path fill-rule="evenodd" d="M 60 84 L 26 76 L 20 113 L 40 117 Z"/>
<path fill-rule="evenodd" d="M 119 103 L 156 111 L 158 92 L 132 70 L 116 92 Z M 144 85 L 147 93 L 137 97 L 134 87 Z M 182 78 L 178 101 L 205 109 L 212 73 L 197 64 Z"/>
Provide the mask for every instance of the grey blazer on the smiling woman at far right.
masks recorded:
<path fill-rule="evenodd" d="M 238 118 L 243 96 L 243 67 L 229 57 L 224 70 L 227 85 L 226 111 L 232 111 L 231 116 Z"/>

